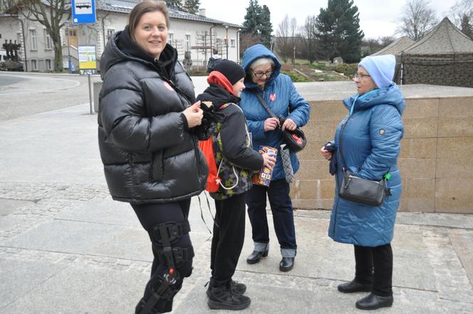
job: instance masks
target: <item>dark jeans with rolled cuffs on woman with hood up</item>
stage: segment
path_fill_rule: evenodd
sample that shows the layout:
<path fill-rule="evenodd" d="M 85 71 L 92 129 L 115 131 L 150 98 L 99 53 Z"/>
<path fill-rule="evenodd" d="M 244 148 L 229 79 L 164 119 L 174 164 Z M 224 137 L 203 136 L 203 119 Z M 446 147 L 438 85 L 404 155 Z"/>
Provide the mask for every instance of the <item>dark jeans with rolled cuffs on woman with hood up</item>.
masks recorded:
<path fill-rule="evenodd" d="M 266 193 L 273 213 L 274 231 L 281 248 L 297 248 L 296 229 L 289 183 L 285 179 L 271 181 L 269 187 L 254 185 L 246 194 L 248 216 L 253 241 L 269 243 L 269 227 L 266 216 Z"/>

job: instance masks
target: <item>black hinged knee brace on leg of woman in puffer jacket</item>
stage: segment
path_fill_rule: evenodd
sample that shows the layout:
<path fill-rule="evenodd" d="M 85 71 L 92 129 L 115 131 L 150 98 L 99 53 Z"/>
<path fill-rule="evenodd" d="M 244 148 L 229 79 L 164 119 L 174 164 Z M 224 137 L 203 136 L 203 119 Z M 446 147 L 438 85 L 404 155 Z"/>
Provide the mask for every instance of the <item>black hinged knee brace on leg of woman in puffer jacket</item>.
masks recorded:
<path fill-rule="evenodd" d="M 181 274 L 179 268 L 194 257 L 192 246 L 187 248 L 173 246 L 189 231 L 189 221 L 182 223 L 167 222 L 153 226 L 150 237 L 153 251 L 157 252 L 155 258 L 158 259 L 160 266 L 147 283 L 147 289 L 150 289 L 150 297 L 147 300 L 145 298 L 140 300 L 136 313 L 155 313 L 155 305 L 160 300 L 172 300 L 177 291 L 180 291 L 182 277 L 190 276 L 190 271 Z"/>

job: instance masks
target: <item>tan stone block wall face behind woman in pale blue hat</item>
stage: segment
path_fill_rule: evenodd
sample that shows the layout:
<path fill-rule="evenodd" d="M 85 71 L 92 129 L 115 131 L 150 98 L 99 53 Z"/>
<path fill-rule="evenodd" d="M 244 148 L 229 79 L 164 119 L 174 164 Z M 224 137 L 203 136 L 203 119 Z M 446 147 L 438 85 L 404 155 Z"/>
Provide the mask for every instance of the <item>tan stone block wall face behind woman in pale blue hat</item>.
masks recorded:
<path fill-rule="evenodd" d="M 473 97 L 407 98 L 399 159 L 401 211 L 473 214 Z M 340 100 L 311 102 L 308 145 L 291 185 L 296 208 L 331 209 L 335 182 L 319 150 L 346 114 Z"/>

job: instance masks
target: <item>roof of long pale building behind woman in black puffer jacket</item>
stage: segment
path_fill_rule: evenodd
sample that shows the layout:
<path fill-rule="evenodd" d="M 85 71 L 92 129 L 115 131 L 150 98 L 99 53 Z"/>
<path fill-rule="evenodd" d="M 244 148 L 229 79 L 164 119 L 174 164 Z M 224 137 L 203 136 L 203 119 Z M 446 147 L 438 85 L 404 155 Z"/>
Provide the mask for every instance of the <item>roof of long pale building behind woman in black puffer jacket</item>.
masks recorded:
<path fill-rule="evenodd" d="M 136 2 L 126 1 L 126 0 L 105 0 L 98 3 L 98 9 L 108 12 L 116 12 L 129 14 L 131 10 L 136 6 Z M 181 19 L 187 21 L 199 21 L 204 23 L 228 25 L 229 27 L 241 28 L 240 25 L 227 23 L 224 21 L 219 21 L 216 19 L 209 19 L 206 16 L 199 16 L 198 14 L 187 13 L 184 11 L 179 11 L 177 9 L 168 8 L 170 19 Z"/>

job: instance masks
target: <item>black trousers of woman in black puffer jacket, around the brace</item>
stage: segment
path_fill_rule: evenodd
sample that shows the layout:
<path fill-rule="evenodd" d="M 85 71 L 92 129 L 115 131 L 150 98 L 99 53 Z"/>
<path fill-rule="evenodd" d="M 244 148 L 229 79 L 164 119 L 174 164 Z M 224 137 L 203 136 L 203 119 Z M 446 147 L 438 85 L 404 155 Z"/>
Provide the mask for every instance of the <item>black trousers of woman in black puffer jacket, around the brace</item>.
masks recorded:
<path fill-rule="evenodd" d="M 187 221 L 187 217 L 189 216 L 190 199 L 167 204 L 131 204 L 131 206 L 135 210 L 143 228 L 145 228 L 150 235 L 150 239 L 152 239 L 150 231 L 152 231 L 153 226 L 170 221 L 177 223 Z M 189 234 L 184 234 L 181 239 L 172 244 L 172 247 L 176 246 L 181 248 L 192 248 Z M 155 273 L 164 273 L 169 268 L 167 265 L 160 264 L 158 260 L 157 251 L 155 251 L 155 249 L 160 248 L 162 248 L 162 246 L 159 245 L 152 247 L 152 253 L 155 258 L 152 261 L 151 277 L 155 275 Z M 190 276 L 192 273 L 192 259 L 177 267 L 176 270 L 180 274 L 180 285 L 182 285 L 183 278 Z M 148 300 L 151 295 L 150 287 L 148 285 L 150 285 L 150 282 L 147 283 L 143 295 L 145 300 Z M 155 305 L 155 309 L 158 310 L 158 313 L 170 312 L 172 310 L 172 300 L 158 301 L 157 305 Z"/>

